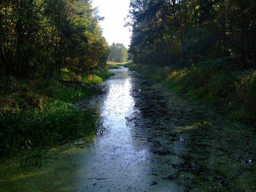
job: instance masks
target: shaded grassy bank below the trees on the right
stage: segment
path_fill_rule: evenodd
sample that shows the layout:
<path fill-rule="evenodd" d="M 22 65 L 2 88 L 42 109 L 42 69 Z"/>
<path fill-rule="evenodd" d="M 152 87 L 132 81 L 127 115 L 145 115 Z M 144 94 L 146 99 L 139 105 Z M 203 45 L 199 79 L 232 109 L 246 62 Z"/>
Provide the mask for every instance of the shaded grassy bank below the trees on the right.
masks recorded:
<path fill-rule="evenodd" d="M 217 104 L 224 108 L 226 116 L 232 120 L 255 125 L 256 71 L 230 70 L 213 66 L 212 63 L 208 61 L 204 67 L 192 66 L 190 69 L 161 68 L 134 63 L 127 66 L 130 70 L 157 79 L 175 92 Z"/>

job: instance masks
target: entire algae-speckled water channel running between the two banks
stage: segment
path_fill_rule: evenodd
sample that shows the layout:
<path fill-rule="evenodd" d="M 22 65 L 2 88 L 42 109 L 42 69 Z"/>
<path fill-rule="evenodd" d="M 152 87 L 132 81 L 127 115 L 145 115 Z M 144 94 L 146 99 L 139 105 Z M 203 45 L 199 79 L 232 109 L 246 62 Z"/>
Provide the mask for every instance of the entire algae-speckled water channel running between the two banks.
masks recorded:
<path fill-rule="evenodd" d="M 2 160 L 0 191 L 256 191 L 256 132 L 216 108 L 127 68 L 78 102 L 109 131 L 43 153 L 42 166 Z"/>

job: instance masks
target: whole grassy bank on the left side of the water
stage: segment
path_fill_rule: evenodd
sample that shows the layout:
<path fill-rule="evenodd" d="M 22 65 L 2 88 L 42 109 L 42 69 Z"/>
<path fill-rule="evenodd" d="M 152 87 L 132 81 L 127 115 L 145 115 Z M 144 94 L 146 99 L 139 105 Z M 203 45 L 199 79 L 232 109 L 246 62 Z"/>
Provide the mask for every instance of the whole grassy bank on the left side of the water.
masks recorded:
<path fill-rule="evenodd" d="M 0 156 L 22 155 L 22 164 L 32 164 L 42 149 L 58 142 L 83 138 L 93 140 L 101 124 L 90 109 L 84 111 L 70 103 L 92 96 L 94 91 L 62 80 L 100 83 L 113 75 L 107 68 L 76 76 L 63 69 L 52 79 L 11 79 L 0 87 Z M 32 158 L 33 157 L 33 158 Z M 28 159 L 30 162 L 28 163 Z M 34 164 L 38 164 L 38 159 Z"/>

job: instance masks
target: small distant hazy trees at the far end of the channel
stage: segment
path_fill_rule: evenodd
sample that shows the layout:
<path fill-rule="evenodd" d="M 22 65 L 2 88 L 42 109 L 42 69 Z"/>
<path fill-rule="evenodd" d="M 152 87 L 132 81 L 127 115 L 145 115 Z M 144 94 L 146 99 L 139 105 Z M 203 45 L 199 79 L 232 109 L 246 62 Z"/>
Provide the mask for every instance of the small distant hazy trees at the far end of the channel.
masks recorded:
<path fill-rule="evenodd" d="M 109 61 L 112 62 L 126 62 L 128 58 L 128 49 L 124 44 L 112 43 L 110 46 L 110 55 L 108 57 Z"/>

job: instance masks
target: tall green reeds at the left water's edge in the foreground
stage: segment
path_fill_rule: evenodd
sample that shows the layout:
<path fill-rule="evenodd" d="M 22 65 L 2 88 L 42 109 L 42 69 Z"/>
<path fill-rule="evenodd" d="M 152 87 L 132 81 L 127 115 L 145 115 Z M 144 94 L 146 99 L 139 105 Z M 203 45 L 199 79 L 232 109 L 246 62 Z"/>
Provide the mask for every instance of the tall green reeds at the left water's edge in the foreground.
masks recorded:
<path fill-rule="evenodd" d="M 53 99 L 44 101 L 41 109 L 2 109 L 0 113 L 1 156 L 13 156 L 28 143 L 36 148 L 63 140 L 90 140 L 99 128 L 99 119 L 90 110 Z"/>

